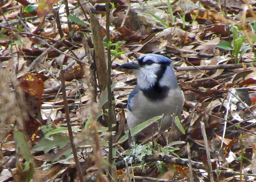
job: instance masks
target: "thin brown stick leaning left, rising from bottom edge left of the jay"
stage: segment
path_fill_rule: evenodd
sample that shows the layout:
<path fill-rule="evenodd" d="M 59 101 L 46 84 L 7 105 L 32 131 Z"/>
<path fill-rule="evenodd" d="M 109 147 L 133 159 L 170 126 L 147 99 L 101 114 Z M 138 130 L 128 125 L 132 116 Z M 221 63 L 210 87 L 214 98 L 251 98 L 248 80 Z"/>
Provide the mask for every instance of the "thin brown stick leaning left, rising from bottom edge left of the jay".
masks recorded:
<path fill-rule="evenodd" d="M 60 63 L 60 78 L 61 78 L 61 90 L 62 90 L 62 96 L 63 96 L 63 103 L 64 103 L 64 110 L 66 114 L 66 121 L 68 125 L 68 135 L 70 139 L 70 144 L 72 148 L 72 153 L 74 156 L 74 160 L 76 162 L 76 169 L 79 174 L 80 182 L 84 182 L 83 174 L 82 174 L 82 169 L 78 160 L 78 156 L 76 153 L 76 146 L 74 144 L 74 139 L 73 139 L 73 133 L 72 133 L 72 127 L 71 127 L 71 121 L 69 117 L 69 110 L 68 110 L 68 100 L 67 100 L 67 95 L 66 95 L 66 88 L 65 88 L 65 80 L 64 80 L 64 71 L 63 71 L 63 66 L 62 63 Z"/>

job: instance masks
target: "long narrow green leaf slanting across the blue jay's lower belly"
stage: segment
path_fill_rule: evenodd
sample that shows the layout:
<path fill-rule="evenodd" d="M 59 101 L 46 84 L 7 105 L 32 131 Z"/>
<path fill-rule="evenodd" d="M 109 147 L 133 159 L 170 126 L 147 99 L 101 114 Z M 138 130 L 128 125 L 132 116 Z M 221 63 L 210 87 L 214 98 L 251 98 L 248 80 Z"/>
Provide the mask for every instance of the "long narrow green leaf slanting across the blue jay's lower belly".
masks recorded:
<path fill-rule="evenodd" d="M 151 119 L 148 119 L 147 121 L 140 123 L 139 125 L 137 125 L 134 129 L 131 129 L 131 136 L 133 137 L 134 135 L 136 135 L 137 133 L 139 133 L 140 131 L 142 131 L 143 129 L 145 129 L 146 127 L 148 127 L 149 125 L 151 125 L 152 123 L 156 122 L 158 119 L 161 119 L 162 115 L 158 115 L 156 117 L 153 117 Z M 128 140 L 128 135 L 129 133 L 126 133 L 124 136 L 122 136 L 118 142 L 124 142 L 126 140 Z"/>

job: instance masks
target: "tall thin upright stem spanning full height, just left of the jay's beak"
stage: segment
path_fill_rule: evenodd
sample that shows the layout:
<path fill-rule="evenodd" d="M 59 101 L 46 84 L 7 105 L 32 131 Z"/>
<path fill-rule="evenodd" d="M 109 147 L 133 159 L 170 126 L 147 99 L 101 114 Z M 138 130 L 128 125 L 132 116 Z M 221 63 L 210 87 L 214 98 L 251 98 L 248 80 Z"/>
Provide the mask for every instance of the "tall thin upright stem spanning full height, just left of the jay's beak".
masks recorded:
<path fill-rule="evenodd" d="M 109 25 L 110 25 L 110 8 L 109 8 L 109 2 L 108 0 L 105 0 L 106 4 L 106 30 L 107 30 L 107 43 L 110 43 L 110 30 L 109 30 Z M 108 132 L 110 133 L 109 139 L 108 139 L 108 173 L 110 176 L 112 176 L 112 163 L 113 163 L 113 139 L 112 139 L 112 92 L 111 92 L 111 53 L 110 53 L 110 47 L 107 47 L 108 50 Z M 109 176 L 109 179 L 111 180 Z"/>

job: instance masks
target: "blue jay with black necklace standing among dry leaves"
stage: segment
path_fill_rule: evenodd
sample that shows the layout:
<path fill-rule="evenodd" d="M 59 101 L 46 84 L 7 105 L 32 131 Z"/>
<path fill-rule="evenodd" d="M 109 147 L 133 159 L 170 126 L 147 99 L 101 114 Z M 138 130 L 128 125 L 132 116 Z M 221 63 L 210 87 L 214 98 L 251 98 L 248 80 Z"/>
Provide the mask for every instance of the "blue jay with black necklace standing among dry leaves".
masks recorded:
<path fill-rule="evenodd" d="M 151 124 L 138 135 L 152 135 L 156 131 L 163 133 L 172 127 L 174 117 L 182 110 L 184 94 L 178 86 L 171 62 L 162 55 L 146 54 L 119 66 L 137 74 L 137 85 L 127 102 L 128 128 L 133 129 L 152 117 L 164 114 L 162 122 Z"/>

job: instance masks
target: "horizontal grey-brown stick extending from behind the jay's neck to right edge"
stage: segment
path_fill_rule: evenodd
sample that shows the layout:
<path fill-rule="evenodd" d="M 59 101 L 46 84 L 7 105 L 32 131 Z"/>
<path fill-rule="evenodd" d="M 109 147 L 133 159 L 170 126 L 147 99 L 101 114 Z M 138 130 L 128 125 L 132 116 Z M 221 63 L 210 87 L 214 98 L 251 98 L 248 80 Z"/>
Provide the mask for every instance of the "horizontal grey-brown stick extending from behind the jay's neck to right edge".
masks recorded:
<path fill-rule="evenodd" d="M 228 64 L 228 65 L 210 65 L 210 66 L 193 66 L 193 67 L 177 67 L 176 71 L 192 71 L 192 70 L 216 70 L 216 69 L 236 69 L 246 67 L 256 67 L 256 63 L 244 64 Z"/>

